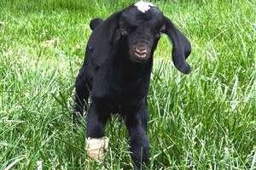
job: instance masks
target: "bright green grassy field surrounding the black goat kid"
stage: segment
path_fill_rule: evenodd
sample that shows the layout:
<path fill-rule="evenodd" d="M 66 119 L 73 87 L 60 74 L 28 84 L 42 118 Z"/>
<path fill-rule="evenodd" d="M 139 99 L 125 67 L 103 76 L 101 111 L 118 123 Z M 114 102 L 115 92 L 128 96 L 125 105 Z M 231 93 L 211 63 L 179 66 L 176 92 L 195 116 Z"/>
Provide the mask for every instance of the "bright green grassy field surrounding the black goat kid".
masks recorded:
<path fill-rule="evenodd" d="M 113 116 L 102 163 L 89 164 L 84 123 L 73 130 L 73 84 L 89 22 L 131 0 L 0 1 L 0 169 L 131 169 Z M 155 1 L 192 43 L 178 72 L 160 40 L 148 104 L 148 169 L 256 169 L 256 2 Z"/>

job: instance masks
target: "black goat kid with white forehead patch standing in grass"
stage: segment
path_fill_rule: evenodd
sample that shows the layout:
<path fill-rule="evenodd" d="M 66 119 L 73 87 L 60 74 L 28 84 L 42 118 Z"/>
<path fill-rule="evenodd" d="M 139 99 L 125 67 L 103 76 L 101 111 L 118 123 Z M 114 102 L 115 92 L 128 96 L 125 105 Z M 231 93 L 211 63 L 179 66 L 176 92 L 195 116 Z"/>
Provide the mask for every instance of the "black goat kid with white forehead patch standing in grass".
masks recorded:
<path fill-rule="evenodd" d="M 91 20 L 90 28 L 84 64 L 75 82 L 73 118 L 87 111 L 90 96 L 86 137 L 100 139 L 111 113 L 119 113 L 129 132 L 131 157 L 140 168 L 148 162 L 147 94 L 154 49 L 165 33 L 173 44 L 174 65 L 188 74 L 190 43 L 152 3 L 135 3 L 107 20 Z"/>

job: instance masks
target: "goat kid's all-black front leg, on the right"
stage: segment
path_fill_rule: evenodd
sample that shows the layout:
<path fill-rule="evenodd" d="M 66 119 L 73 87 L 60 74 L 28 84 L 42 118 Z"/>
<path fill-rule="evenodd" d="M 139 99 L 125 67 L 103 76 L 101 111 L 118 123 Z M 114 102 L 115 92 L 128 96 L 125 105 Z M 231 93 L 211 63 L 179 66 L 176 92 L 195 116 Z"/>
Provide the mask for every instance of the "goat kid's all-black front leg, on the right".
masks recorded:
<path fill-rule="evenodd" d="M 147 137 L 148 110 L 145 104 L 137 106 L 124 106 L 122 112 L 130 136 L 131 158 L 137 169 L 148 163 L 149 143 Z"/>

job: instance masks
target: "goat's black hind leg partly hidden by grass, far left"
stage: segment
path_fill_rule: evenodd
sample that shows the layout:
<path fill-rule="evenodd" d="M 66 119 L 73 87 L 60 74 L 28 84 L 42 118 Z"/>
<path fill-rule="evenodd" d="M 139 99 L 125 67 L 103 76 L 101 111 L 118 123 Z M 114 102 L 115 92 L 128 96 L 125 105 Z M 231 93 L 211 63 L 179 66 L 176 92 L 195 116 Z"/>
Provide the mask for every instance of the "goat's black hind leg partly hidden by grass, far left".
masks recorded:
<path fill-rule="evenodd" d="M 84 67 L 82 67 L 75 82 L 73 122 L 79 122 L 79 118 L 84 116 L 84 111 L 88 110 L 90 90 L 89 77 L 86 75 Z"/>

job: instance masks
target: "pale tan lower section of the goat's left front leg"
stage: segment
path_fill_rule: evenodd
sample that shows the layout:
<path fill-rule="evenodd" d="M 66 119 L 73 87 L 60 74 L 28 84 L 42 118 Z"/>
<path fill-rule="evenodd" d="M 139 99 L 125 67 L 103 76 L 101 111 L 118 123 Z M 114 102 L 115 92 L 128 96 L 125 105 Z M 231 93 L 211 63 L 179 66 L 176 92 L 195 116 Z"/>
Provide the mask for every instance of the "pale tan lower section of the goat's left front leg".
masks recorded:
<path fill-rule="evenodd" d="M 108 137 L 102 137 L 100 139 L 88 138 L 86 141 L 85 150 L 90 160 L 102 161 L 108 150 Z"/>

